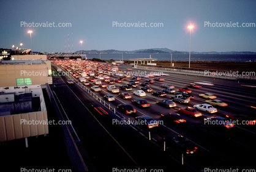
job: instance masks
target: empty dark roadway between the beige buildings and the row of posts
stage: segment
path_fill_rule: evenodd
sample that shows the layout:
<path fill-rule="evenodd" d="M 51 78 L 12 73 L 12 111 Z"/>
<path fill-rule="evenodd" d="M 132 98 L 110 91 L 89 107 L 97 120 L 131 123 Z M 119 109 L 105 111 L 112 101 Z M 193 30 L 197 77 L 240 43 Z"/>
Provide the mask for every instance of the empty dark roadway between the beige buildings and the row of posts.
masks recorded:
<path fill-rule="evenodd" d="M 111 168 L 141 167 L 169 171 L 170 167 L 165 167 L 165 164 L 176 164 L 171 157 L 162 155 L 164 152 L 159 152 L 158 147 L 152 145 L 138 132 L 131 130 L 130 126 L 112 124 L 113 119 L 119 120 L 115 114 L 100 115 L 94 107 L 102 105 L 78 85 L 67 85 L 66 80 L 66 77 L 63 77 L 64 82 L 62 77 L 54 77 L 53 91 L 61 101 L 97 170 L 111 171 Z M 156 159 L 156 156 L 160 158 Z M 183 169 L 179 164 L 175 165 L 176 167 Z"/>

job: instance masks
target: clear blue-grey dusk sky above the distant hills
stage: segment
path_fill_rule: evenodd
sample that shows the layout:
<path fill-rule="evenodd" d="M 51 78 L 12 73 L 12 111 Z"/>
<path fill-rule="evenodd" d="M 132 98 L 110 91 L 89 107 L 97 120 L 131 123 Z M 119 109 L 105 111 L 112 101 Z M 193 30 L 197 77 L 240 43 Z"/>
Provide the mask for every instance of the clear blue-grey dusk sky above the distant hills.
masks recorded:
<path fill-rule="evenodd" d="M 189 51 L 187 26 L 193 24 L 191 51 L 256 52 L 255 9 L 255 0 L 1 1 L 0 48 L 12 49 L 20 43 L 22 48 L 31 48 L 28 30 L 32 30 L 33 51 L 65 52 L 66 42 L 66 51 L 72 52 L 72 40 L 74 52 L 81 49 L 80 41 L 83 50 Z M 33 22 L 35 27 L 27 27 Z M 46 23 L 71 26 L 43 27 Z M 138 23 L 144 27 L 135 27 Z M 150 27 L 151 23 L 159 27 Z M 233 27 L 227 27 L 230 23 Z M 243 23 L 254 24 L 243 27 Z"/>

